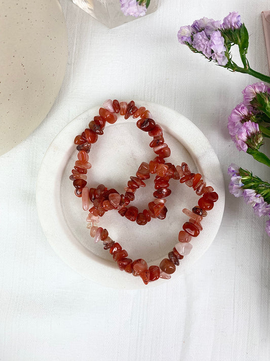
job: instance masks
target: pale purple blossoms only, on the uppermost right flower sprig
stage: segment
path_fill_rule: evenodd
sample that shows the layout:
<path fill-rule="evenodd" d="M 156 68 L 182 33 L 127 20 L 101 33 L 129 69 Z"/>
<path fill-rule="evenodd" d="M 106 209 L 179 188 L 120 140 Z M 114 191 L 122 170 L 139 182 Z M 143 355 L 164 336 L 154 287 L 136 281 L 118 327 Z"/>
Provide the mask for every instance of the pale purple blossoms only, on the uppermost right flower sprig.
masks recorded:
<path fill-rule="evenodd" d="M 225 55 L 227 49 L 224 45 L 222 30 L 239 29 L 241 25 L 241 17 L 234 11 L 229 13 L 223 22 L 203 17 L 195 20 L 192 25 L 181 26 L 177 37 L 179 43 L 202 52 L 208 59 L 224 66 L 228 58 Z"/>

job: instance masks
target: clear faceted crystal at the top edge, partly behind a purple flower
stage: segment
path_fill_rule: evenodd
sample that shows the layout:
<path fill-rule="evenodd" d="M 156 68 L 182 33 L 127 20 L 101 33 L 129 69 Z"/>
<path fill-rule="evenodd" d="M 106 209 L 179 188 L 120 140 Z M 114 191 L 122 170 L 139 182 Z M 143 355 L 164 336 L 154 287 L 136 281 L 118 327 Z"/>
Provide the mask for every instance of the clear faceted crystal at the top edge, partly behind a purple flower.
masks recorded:
<path fill-rule="evenodd" d="M 138 19 L 134 16 L 125 16 L 121 11 L 119 0 L 72 0 L 85 12 L 102 22 L 109 28 L 122 25 Z M 146 15 L 157 10 L 160 0 L 151 0 Z M 145 16 L 146 16 L 145 15 Z M 139 17 L 140 18 L 140 17 Z"/>

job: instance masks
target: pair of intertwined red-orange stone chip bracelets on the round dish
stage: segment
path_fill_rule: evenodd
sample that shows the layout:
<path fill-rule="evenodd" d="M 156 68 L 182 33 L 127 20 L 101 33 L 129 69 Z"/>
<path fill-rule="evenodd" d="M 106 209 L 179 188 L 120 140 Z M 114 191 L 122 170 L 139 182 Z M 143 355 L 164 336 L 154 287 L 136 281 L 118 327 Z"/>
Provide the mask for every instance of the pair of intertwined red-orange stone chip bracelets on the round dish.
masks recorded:
<path fill-rule="evenodd" d="M 156 149 L 157 151 L 154 149 L 158 156 L 150 161 L 149 164 L 143 162 L 136 173 L 136 177 L 131 177 L 131 181 L 128 182 L 128 187 L 125 189 L 125 195 L 118 193 L 115 189 L 107 189 L 103 184 L 100 184 L 97 188 L 88 189 L 86 187 L 87 169 L 91 168 L 91 164 L 88 162 L 91 144 L 97 141 L 98 135 L 103 134 L 105 122 L 114 123 L 117 120 L 117 116 L 114 113 L 119 112 L 125 116 L 125 119 L 128 119 L 131 115 L 133 115 L 133 118 L 141 116 L 141 119 L 137 121 L 137 126 L 141 129 L 144 127 L 147 129 L 145 131 L 154 137 L 150 147 L 159 147 Z M 192 245 L 189 242 L 192 237 L 199 236 L 200 231 L 203 229 L 201 221 L 203 217 L 207 216 L 207 211 L 213 208 L 214 202 L 218 200 L 218 194 L 213 191 L 211 186 L 206 186 L 201 174 L 191 173 L 186 163 L 183 162 L 181 166 L 176 167 L 171 163 L 165 163 L 164 158 L 170 155 L 170 149 L 167 144 L 160 147 L 164 144 L 162 128 L 151 118 L 143 118 L 143 116 L 149 117 L 150 112 L 143 107 L 137 108 L 133 101 L 129 104 L 125 102 L 119 103 L 117 100 L 113 102 L 111 100 L 106 101 L 103 104 L 103 108 L 99 110 L 99 116 L 94 117 L 94 121 L 89 123 L 89 129 L 85 129 L 81 136 L 75 137 L 74 143 L 77 145 L 79 153 L 70 179 L 73 180 L 75 194 L 82 197 L 83 208 L 87 210 L 90 201 L 93 202 L 94 206 L 89 210 L 90 213 L 87 218 L 89 222 L 87 227 L 90 229 L 90 236 L 94 238 L 94 242 L 103 242 L 104 249 L 109 249 L 113 260 L 117 261 L 120 270 L 125 270 L 125 272 L 132 273 L 134 276 L 140 276 L 143 282 L 147 284 L 149 281 L 155 281 L 159 278 L 171 278 L 171 274 L 175 272 L 176 266 L 180 264 L 179 260 L 191 251 Z M 155 132 L 152 132 L 153 130 Z M 150 132 L 152 133 L 150 134 Z M 145 209 L 142 213 L 138 213 L 136 207 L 126 207 L 135 198 L 135 196 L 131 196 L 132 199 L 129 199 L 126 197 L 126 194 L 134 195 L 139 186 L 145 186 L 143 180 L 148 179 L 150 173 L 157 174 L 155 188 L 158 185 L 156 188 L 158 194 L 156 193 L 155 195 L 154 192 L 153 195 L 156 200 L 148 204 L 147 210 Z M 192 208 L 192 211 L 186 208 L 183 209 L 183 213 L 189 217 L 189 220 L 183 224 L 183 230 L 178 235 L 179 243 L 168 253 L 168 258 L 164 258 L 160 262 L 160 266 L 150 266 L 148 268 L 146 261 L 142 258 L 134 261 L 131 258 L 127 258 L 128 252 L 122 249 L 118 242 L 112 241 L 107 229 L 98 227 L 97 223 L 100 216 L 112 209 L 118 209 L 122 216 L 126 216 L 126 218 L 133 221 L 136 220 L 138 224 L 142 225 L 146 224 L 151 218 L 158 217 L 164 219 L 167 212 L 167 208 L 164 205 L 166 202 L 164 196 L 170 194 L 168 192 L 168 181 L 171 178 L 178 179 L 180 183 L 185 183 L 188 187 L 192 187 L 202 197 L 199 199 L 198 205 Z"/>

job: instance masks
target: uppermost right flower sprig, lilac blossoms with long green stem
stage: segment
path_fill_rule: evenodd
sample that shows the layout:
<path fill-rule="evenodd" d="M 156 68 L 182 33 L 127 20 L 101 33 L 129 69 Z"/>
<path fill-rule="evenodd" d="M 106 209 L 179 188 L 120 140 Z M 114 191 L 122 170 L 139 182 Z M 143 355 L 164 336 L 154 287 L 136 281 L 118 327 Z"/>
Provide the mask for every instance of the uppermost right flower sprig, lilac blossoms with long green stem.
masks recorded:
<path fill-rule="evenodd" d="M 206 17 L 195 20 L 192 25 L 181 26 L 178 41 L 195 53 L 204 55 L 210 61 L 232 72 L 246 73 L 270 83 L 270 77 L 250 68 L 246 57 L 249 45 L 248 30 L 241 22 L 238 12 L 229 13 L 223 22 Z M 243 67 L 232 59 L 230 49 L 237 45 Z"/>

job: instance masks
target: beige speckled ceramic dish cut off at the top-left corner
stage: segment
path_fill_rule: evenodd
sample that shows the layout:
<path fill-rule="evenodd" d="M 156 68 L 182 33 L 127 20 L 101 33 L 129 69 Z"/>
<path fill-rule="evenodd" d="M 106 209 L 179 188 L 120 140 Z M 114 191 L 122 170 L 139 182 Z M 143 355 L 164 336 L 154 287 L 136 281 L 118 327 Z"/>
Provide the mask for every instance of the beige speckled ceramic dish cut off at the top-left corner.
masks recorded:
<path fill-rule="evenodd" d="M 0 24 L 1 155 L 51 109 L 65 74 L 67 35 L 58 0 L 4 0 Z"/>

